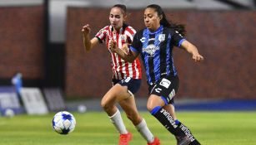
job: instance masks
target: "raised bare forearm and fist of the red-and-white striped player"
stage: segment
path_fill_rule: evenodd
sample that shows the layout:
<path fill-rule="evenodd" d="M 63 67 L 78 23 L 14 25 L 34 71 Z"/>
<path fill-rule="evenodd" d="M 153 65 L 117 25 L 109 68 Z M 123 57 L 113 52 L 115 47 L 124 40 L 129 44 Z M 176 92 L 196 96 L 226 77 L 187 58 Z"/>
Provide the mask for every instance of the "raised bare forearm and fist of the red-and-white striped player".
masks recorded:
<path fill-rule="evenodd" d="M 90 39 L 90 32 L 91 28 L 88 24 L 83 26 L 83 46 L 85 48 L 85 51 L 90 51 L 93 48 L 93 46 L 96 46 L 99 43 L 98 39 L 95 37 L 93 39 Z"/>

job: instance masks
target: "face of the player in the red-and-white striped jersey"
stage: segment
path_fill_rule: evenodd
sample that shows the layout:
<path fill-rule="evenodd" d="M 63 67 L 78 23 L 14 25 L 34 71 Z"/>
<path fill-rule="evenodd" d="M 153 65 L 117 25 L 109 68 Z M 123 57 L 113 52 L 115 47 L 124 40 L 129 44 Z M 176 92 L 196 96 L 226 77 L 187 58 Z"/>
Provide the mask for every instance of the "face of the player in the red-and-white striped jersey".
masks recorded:
<path fill-rule="evenodd" d="M 109 22 L 115 30 L 123 27 L 123 13 L 118 7 L 113 7 L 109 13 Z"/>

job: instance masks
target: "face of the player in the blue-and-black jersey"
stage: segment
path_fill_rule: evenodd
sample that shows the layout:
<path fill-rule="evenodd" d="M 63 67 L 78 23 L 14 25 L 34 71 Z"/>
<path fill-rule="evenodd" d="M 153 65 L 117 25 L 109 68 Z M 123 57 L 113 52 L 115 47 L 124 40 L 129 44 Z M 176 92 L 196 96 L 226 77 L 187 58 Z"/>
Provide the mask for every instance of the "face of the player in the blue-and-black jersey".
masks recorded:
<path fill-rule="evenodd" d="M 158 17 L 158 12 L 153 8 L 146 8 L 144 12 L 144 23 L 150 31 L 156 31 L 160 27 L 161 18 Z"/>

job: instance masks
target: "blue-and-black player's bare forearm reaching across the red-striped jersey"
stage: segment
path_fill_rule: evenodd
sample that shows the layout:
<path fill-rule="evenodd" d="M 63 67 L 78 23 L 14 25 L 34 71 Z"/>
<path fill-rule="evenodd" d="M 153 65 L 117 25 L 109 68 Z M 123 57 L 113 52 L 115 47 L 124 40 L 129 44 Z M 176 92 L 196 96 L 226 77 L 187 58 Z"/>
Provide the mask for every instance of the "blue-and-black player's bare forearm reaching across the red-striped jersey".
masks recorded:
<path fill-rule="evenodd" d="M 128 62 L 133 62 L 138 56 L 138 53 L 130 51 L 127 44 L 122 46 L 122 49 L 119 49 L 116 41 L 110 41 L 109 49 L 118 54 L 123 60 Z"/>

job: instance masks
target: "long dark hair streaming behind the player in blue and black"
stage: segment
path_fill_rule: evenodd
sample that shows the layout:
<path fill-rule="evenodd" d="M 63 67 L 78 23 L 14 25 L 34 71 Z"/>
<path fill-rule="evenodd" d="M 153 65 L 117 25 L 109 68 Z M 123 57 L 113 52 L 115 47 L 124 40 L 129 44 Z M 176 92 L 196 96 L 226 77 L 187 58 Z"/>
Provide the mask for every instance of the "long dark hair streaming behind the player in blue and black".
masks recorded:
<path fill-rule="evenodd" d="M 148 5 L 147 8 L 153 8 L 155 9 L 156 12 L 158 12 L 158 16 L 162 17 L 160 24 L 163 25 L 163 27 L 173 28 L 175 31 L 178 31 L 181 35 L 185 36 L 186 34 L 185 26 L 183 24 L 168 22 L 168 19 L 165 13 L 163 12 L 162 7 L 158 6 L 157 4 L 151 4 L 151 5 Z"/>

